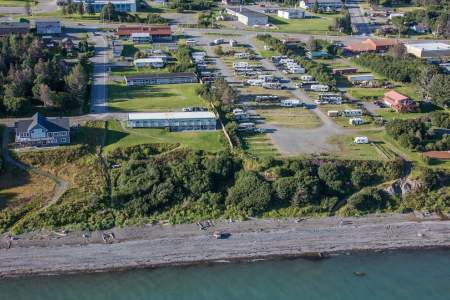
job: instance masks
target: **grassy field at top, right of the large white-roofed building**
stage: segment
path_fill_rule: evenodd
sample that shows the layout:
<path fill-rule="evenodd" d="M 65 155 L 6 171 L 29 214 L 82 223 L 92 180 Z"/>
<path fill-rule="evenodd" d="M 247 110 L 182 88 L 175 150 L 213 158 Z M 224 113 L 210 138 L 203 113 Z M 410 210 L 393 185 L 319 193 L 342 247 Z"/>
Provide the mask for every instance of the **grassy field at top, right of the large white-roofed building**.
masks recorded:
<path fill-rule="evenodd" d="M 270 16 L 269 23 L 278 27 L 281 32 L 307 33 L 307 34 L 330 34 L 341 35 L 339 32 L 330 31 L 328 26 L 332 25 L 337 15 L 317 15 L 313 18 L 286 20 L 277 16 Z"/>

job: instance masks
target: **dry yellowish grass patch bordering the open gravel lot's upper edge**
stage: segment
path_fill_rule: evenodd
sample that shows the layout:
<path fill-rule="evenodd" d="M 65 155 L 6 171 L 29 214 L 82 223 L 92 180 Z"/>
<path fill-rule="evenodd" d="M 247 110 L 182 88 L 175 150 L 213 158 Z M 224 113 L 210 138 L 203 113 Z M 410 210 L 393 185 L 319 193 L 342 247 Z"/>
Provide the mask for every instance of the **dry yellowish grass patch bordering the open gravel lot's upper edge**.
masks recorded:
<path fill-rule="evenodd" d="M 320 125 L 319 118 L 308 109 L 296 108 L 269 108 L 257 109 L 266 123 L 293 128 L 314 128 Z"/>

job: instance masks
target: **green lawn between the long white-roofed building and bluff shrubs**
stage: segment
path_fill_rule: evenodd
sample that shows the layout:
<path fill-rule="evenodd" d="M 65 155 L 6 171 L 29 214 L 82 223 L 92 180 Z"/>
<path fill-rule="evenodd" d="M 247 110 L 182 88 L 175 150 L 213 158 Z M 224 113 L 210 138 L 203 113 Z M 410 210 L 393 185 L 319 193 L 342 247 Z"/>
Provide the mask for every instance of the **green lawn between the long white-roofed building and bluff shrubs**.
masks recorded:
<path fill-rule="evenodd" d="M 179 144 L 181 147 L 209 152 L 225 149 L 221 130 L 170 132 L 166 129 L 156 128 L 132 129 L 122 127 L 119 121 L 108 121 L 107 129 L 106 152 L 117 147 L 151 143 Z"/>

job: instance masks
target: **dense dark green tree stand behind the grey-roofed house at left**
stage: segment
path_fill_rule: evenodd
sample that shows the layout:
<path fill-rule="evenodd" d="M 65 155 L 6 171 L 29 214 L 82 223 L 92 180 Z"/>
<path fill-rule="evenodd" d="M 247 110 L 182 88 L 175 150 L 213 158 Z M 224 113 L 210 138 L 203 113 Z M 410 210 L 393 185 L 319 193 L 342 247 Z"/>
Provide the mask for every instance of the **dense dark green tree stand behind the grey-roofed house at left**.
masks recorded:
<path fill-rule="evenodd" d="M 33 104 L 57 110 L 84 105 L 88 92 L 88 62 L 71 66 L 60 46 L 46 48 L 39 37 L 0 38 L 0 110 L 26 112 Z"/>

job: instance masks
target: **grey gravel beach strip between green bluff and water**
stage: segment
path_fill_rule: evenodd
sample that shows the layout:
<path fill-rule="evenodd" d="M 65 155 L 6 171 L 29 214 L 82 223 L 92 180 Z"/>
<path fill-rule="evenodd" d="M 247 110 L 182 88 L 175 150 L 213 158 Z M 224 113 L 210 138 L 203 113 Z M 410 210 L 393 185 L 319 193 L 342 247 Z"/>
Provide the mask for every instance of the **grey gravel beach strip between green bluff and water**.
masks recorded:
<path fill-rule="evenodd" d="M 215 239 L 214 231 L 231 235 Z M 383 214 L 360 218 L 258 219 L 220 221 L 207 230 L 195 224 L 147 225 L 58 236 L 19 236 L 7 249 L 0 243 L 0 277 L 69 275 L 155 269 L 213 263 L 309 258 L 397 250 L 450 248 L 450 221 Z M 322 254 L 322 255 L 320 255 Z"/>

